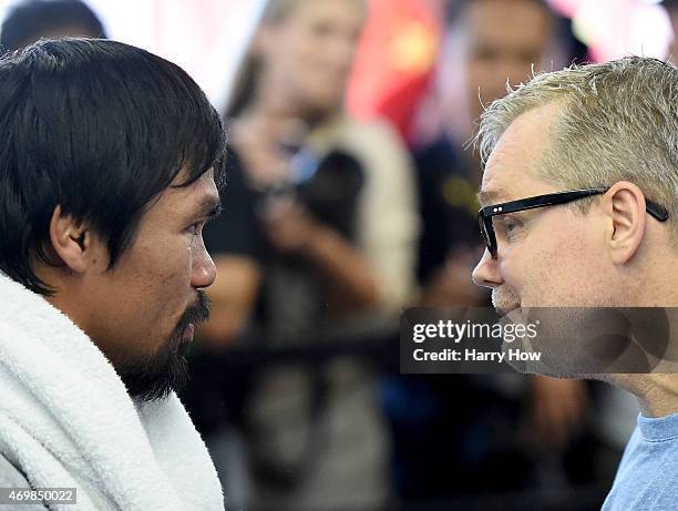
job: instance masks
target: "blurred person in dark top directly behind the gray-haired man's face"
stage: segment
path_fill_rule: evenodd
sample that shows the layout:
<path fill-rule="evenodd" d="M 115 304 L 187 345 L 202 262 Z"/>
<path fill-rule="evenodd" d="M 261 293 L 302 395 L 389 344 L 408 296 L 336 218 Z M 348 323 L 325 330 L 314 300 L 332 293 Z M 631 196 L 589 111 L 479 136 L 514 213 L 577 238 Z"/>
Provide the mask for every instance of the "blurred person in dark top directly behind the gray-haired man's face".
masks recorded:
<path fill-rule="evenodd" d="M 533 67 L 542 65 L 556 35 L 554 22 L 540 0 L 449 3 L 438 76 L 414 137 L 420 306 L 490 305 L 489 293 L 470 277 L 482 253 L 476 219 L 482 166 L 465 143 L 483 104 L 506 94 L 507 81 L 527 80 Z M 535 484 L 534 460 L 567 449 L 587 406 L 582 382 L 522 376 L 394 377 L 386 381 L 383 400 L 396 483 L 407 502 Z M 555 466 L 557 476 L 559 462 Z"/>

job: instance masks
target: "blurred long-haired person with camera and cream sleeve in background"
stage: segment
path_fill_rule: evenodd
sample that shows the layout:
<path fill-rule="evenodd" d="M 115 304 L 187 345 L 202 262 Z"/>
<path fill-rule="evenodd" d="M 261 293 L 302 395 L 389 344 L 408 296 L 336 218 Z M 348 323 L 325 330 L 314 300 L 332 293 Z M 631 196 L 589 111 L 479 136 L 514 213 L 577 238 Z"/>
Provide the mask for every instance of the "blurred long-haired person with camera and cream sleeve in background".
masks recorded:
<path fill-rule="evenodd" d="M 228 437 L 219 422 L 245 432 L 249 509 L 374 509 L 389 494 L 369 367 L 300 360 L 236 375 L 215 364 L 229 344 L 359 340 L 410 298 L 418 217 L 407 151 L 389 125 L 343 113 L 367 13 L 361 0 L 269 1 L 226 113 L 224 222 L 205 234 L 225 278 L 196 354 L 213 380 L 193 395 L 212 446 Z M 223 477 L 228 494 L 235 474 Z"/>

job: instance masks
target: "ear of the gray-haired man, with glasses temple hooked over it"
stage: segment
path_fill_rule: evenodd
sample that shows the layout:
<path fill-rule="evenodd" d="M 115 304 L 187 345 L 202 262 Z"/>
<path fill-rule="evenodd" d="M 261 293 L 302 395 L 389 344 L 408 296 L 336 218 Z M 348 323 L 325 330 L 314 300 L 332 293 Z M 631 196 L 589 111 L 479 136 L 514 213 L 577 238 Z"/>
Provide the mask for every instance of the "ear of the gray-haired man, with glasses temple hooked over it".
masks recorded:
<path fill-rule="evenodd" d="M 625 264 L 636 254 L 645 236 L 647 214 L 645 195 L 628 181 L 615 183 L 606 193 L 612 221 L 608 249 L 615 264 Z"/>

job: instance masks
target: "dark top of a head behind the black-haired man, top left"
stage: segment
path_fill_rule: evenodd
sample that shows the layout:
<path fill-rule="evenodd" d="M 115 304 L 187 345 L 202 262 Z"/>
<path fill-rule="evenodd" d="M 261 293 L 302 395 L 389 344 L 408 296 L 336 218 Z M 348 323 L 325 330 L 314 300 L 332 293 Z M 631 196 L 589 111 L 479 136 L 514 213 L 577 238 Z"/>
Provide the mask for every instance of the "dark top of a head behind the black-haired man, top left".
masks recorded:
<path fill-rule="evenodd" d="M 4 51 L 18 50 L 56 30 L 74 27 L 84 32 L 69 35 L 106 37 L 96 14 L 81 0 L 25 0 L 4 18 L 0 45 Z"/>

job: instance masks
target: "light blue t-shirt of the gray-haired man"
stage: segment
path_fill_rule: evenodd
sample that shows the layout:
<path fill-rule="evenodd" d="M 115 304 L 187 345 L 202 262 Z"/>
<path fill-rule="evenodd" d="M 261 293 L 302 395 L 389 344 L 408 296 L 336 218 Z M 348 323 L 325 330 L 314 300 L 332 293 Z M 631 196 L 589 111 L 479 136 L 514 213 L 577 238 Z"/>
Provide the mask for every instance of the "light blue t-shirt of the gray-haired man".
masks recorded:
<path fill-rule="evenodd" d="M 678 413 L 638 416 L 602 511 L 678 509 Z"/>

